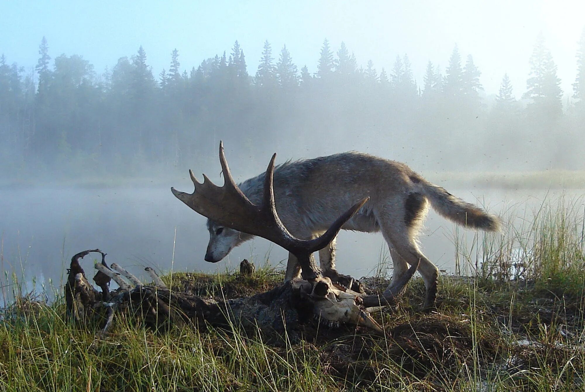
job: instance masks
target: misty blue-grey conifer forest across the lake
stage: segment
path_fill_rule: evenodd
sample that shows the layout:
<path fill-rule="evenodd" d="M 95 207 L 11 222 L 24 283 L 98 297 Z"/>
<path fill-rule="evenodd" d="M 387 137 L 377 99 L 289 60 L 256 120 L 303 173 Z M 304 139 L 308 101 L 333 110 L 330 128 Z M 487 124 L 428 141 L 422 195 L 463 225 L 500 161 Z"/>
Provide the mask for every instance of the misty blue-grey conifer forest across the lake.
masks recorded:
<path fill-rule="evenodd" d="M 80 55 L 55 56 L 44 37 L 34 71 L 2 55 L 2 176 L 182 172 L 216 165 L 220 139 L 239 152 L 230 161 L 254 172 L 275 151 L 288 159 L 348 149 L 442 170 L 583 167 L 585 30 L 570 92 L 542 35 L 526 85 L 504 74 L 497 94 L 484 91 L 481 64 L 457 46 L 445 68 L 429 61 L 421 81 L 408 54 L 364 67 L 326 39 L 309 64 L 315 72 L 268 41 L 257 70 L 238 41 L 197 66 L 169 54 L 157 75 L 142 46 L 103 73 Z"/>

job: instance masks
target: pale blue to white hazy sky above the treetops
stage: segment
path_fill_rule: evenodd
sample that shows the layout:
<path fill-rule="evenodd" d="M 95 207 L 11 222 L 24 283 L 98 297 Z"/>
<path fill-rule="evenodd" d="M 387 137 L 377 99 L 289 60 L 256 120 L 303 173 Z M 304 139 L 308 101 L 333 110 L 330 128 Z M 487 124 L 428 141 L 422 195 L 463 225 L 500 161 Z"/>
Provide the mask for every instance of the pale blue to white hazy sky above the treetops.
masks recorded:
<path fill-rule="evenodd" d="M 463 61 L 472 54 L 481 82 L 495 93 L 508 72 L 517 98 L 525 91 L 528 59 L 540 31 L 572 94 L 577 41 L 585 1 L 12 1 L 1 0 L 0 53 L 32 69 L 46 36 L 50 56 L 80 54 L 95 70 L 115 65 L 142 44 L 157 77 L 177 48 L 181 68 L 229 54 L 238 39 L 250 74 L 264 40 L 278 57 L 283 44 L 295 64 L 316 63 L 325 38 L 334 51 L 344 41 L 360 65 L 388 73 L 407 53 L 422 84 L 428 60 L 444 73 L 457 43 Z"/>

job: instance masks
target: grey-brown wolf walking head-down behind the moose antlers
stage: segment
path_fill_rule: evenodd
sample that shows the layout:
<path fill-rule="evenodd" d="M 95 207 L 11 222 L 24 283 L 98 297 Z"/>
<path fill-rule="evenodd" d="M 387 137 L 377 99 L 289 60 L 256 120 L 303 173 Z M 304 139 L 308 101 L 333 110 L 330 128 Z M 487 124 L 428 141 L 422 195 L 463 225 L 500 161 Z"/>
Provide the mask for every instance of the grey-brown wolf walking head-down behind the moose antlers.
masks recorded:
<path fill-rule="evenodd" d="M 254 204 L 263 196 L 266 173 L 239 184 Z M 464 202 L 444 188 L 426 181 L 404 163 L 359 152 L 338 153 L 315 159 L 287 161 L 274 170 L 274 200 L 278 216 L 292 235 L 312 239 L 324 233 L 336 218 L 364 197 L 370 200 L 342 227 L 359 232 L 382 232 L 393 261 L 387 290 L 401 281 L 408 264 L 417 264 L 426 289 L 425 308 L 435 307 L 439 270 L 418 246 L 418 236 L 429 204 L 439 215 L 468 228 L 500 231 L 500 219 Z M 209 243 L 205 260 L 216 263 L 230 250 L 252 239 L 247 233 L 208 219 Z M 344 285 L 349 276 L 335 268 L 335 243 L 319 250 L 324 276 Z M 284 280 L 300 273 L 289 254 Z"/>

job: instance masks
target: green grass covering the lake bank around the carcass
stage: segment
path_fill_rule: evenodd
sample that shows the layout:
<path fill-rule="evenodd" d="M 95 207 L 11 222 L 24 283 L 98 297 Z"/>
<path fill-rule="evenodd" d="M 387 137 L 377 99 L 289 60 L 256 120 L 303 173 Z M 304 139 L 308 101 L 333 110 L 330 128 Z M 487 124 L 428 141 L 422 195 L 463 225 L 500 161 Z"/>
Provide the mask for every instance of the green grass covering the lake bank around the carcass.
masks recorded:
<path fill-rule="evenodd" d="M 516 222 L 503 235 L 466 247 L 454 233 L 461 275 L 441 278 L 438 313 L 422 312 L 420 278 L 398 307 L 373 312 L 386 336 L 349 326 L 278 339 L 236 326 L 156 332 L 121 315 L 98 337 L 65 321 L 62 297 L 47 304 L 18 292 L 0 320 L 0 390 L 584 390 L 583 204 L 560 198 L 504 215 Z M 381 263 L 370 286 L 384 288 L 387 272 Z M 282 274 L 264 266 L 252 277 L 163 279 L 230 298 L 266 291 Z"/>

